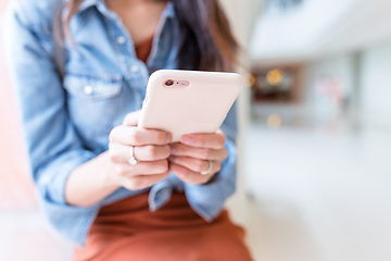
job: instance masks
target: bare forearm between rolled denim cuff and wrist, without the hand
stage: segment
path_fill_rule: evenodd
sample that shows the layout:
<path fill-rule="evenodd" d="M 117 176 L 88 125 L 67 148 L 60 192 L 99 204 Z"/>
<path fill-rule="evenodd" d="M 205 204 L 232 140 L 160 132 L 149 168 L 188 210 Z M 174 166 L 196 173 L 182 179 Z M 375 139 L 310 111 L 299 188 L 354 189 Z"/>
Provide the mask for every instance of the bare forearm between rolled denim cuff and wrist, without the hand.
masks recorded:
<path fill-rule="evenodd" d="M 79 165 L 70 175 L 65 184 L 65 200 L 71 206 L 90 207 L 121 186 L 112 178 L 113 166 L 109 152 Z"/>

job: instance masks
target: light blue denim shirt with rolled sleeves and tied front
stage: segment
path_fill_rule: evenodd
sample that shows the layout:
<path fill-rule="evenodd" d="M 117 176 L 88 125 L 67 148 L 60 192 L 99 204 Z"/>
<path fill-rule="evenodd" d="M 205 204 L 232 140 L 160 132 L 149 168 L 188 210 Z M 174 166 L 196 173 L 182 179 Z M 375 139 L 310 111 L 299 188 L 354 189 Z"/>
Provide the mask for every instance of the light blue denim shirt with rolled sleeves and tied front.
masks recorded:
<path fill-rule="evenodd" d="M 108 150 L 109 133 L 125 115 L 141 109 L 149 75 L 176 69 L 179 35 L 174 7 L 167 3 L 147 64 L 137 59 L 119 16 L 103 0 L 85 0 L 71 20 L 65 75 L 56 71 L 53 51 L 53 0 L 12 0 L 4 15 L 4 47 L 20 100 L 21 119 L 38 201 L 50 223 L 84 246 L 101 207 L 149 191 L 156 211 L 173 189 L 185 191 L 191 208 L 213 221 L 234 194 L 237 134 L 235 105 L 222 125 L 229 157 L 205 185 L 184 184 L 173 173 L 151 188 L 116 190 L 88 208 L 66 203 L 64 186 L 78 165 Z"/>

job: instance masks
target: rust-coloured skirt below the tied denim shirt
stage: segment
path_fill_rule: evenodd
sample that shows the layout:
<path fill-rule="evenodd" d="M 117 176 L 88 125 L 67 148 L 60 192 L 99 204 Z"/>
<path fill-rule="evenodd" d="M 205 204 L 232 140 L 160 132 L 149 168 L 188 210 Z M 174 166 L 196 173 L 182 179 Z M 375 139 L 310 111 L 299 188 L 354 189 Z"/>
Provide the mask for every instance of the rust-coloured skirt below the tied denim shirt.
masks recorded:
<path fill-rule="evenodd" d="M 243 237 L 226 210 L 207 223 L 173 192 L 150 212 L 144 192 L 102 208 L 74 261 L 250 261 Z"/>

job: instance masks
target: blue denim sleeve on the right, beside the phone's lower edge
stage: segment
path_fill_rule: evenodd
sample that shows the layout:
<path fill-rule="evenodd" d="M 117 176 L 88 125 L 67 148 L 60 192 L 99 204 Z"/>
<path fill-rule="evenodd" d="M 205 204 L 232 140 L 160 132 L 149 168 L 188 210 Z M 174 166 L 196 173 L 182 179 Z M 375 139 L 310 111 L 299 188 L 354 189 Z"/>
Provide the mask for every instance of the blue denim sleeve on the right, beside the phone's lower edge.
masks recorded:
<path fill-rule="evenodd" d="M 228 158 L 222 162 L 222 170 L 203 185 L 185 184 L 186 197 L 191 208 L 205 221 L 213 221 L 223 210 L 225 201 L 235 192 L 237 175 L 236 104 L 229 111 L 222 129 L 227 135 L 225 148 Z"/>

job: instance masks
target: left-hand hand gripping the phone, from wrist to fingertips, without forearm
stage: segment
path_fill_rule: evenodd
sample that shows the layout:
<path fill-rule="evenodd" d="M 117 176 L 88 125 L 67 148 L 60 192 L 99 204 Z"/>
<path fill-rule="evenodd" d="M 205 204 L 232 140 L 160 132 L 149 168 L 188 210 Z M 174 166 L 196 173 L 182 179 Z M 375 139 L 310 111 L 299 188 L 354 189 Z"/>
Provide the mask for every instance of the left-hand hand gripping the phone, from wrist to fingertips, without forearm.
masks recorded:
<path fill-rule="evenodd" d="M 169 133 L 137 127 L 141 111 L 126 115 L 123 125 L 110 133 L 109 158 L 115 170 L 110 177 L 118 186 L 139 190 L 168 177 L 168 161 L 172 141 Z M 136 165 L 130 165 L 134 147 Z"/>

